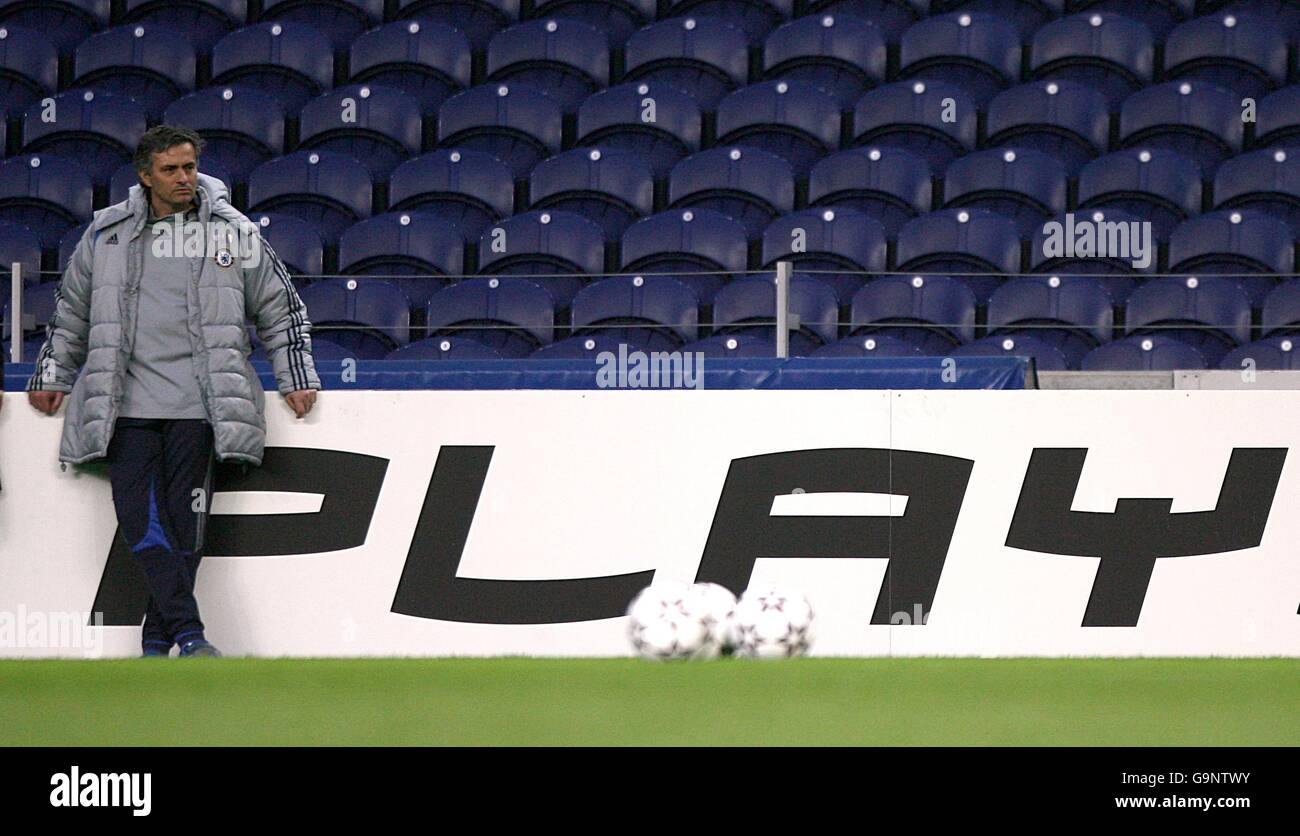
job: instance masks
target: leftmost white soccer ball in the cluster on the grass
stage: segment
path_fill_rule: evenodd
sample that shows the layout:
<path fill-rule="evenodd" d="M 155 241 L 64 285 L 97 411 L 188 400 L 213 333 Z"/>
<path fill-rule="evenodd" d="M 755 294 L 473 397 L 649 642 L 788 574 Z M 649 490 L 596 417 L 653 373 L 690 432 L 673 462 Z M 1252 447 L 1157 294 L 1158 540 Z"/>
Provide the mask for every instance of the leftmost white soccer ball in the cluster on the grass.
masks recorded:
<path fill-rule="evenodd" d="M 698 659 L 718 655 L 698 597 L 686 584 L 659 581 L 628 607 L 628 637 L 644 659 Z"/>

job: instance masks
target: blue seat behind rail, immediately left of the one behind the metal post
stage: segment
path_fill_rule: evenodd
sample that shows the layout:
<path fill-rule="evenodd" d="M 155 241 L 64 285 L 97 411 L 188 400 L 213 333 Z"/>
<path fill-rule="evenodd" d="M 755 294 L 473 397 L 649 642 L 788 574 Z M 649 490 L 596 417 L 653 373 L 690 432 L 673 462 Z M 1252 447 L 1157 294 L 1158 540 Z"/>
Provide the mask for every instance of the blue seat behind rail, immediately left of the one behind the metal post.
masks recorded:
<path fill-rule="evenodd" d="M 573 333 L 675 351 L 699 337 L 699 299 L 670 276 L 615 276 L 573 296 Z"/>

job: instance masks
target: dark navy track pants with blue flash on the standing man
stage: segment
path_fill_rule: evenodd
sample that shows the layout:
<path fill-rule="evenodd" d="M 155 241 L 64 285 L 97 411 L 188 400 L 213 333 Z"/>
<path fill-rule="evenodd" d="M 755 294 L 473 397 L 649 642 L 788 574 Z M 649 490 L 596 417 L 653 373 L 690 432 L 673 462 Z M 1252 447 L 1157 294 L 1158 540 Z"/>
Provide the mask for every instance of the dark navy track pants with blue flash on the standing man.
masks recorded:
<path fill-rule="evenodd" d="M 144 645 L 203 638 L 194 581 L 212 504 L 212 425 L 120 417 L 108 464 L 117 524 L 150 588 Z"/>

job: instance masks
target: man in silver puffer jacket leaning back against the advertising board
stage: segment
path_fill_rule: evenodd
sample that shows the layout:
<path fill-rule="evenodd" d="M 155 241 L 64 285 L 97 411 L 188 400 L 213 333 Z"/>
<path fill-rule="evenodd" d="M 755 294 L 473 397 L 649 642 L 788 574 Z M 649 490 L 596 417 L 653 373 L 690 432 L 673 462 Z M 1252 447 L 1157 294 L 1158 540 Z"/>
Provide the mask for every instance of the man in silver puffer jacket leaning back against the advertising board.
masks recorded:
<path fill-rule="evenodd" d="M 173 645 L 220 655 L 194 582 L 213 455 L 261 464 L 265 446 L 246 320 L 298 417 L 320 389 L 307 309 L 225 185 L 199 174 L 202 150 L 185 127 L 140 138 L 140 183 L 96 212 L 77 244 L 27 382 L 27 399 L 47 415 L 70 393 L 62 462 L 108 460 L 118 525 L 150 588 L 144 655 Z"/>

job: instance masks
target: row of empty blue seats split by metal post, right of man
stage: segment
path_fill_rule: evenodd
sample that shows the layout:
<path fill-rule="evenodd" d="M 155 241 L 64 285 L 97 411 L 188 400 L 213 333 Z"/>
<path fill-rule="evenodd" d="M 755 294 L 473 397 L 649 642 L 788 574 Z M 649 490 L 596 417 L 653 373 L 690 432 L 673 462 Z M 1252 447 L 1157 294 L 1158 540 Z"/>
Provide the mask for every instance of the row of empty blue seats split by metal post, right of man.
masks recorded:
<path fill-rule="evenodd" d="M 344 280 L 303 291 L 320 337 L 339 342 L 334 332 L 346 330 L 351 347 L 372 359 L 410 342 L 408 311 L 400 296 L 384 282 Z M 1294 335 L 1300 329 L 1300 282 L 1275 296 L 1262 333 Z M 576 296 L 572 332 L 649 350 L 675 350 L 701 335 L 696 302 L 689 287 L 673 278 L 610 278 Z M 737 280 L 715 299 L 712 330 L 718 335 L 745 332 L 771 338 L 774 306 L 770 278 Z M 931 355 L 950 352 L 975 338 L 974 296 L 946 277 L 872 282 L 854 296 L 850 321 L 842 329 L 833 294 L 815 280 L 796 276 L 790 306 L 800 317 L 790 346 L 800 355 L 835 343 L 845 332 L 907 343 Z M 1124 335 L 1178 338 L 1212 363 L 1248 343 L 1252 334 L 1244 294 L 1226 281 L 1153 280 L 1135 293 L 1126 317 Z M 503 356 L 525 356 L 552 342 L 555 319 L 550 296 L 533 282 L 468 280 L 433 296 L 426 325 L 436 337 L 473 339 Z M 994 295 L 987 326 L 993 337 L 1049 345 L 1078 368 L 1089 351 L 1110 342 L 1114 319 L 1109 296 L 1091 280 L 1024 278 L 1008 282 Z"/>

